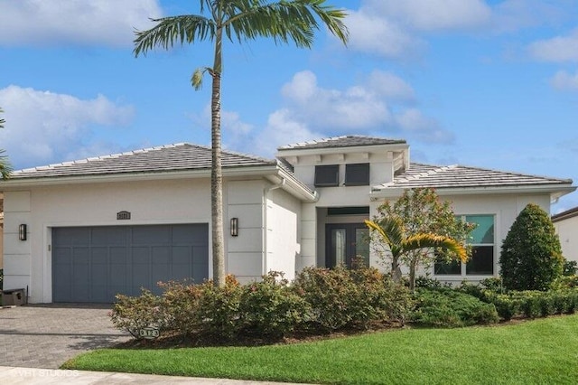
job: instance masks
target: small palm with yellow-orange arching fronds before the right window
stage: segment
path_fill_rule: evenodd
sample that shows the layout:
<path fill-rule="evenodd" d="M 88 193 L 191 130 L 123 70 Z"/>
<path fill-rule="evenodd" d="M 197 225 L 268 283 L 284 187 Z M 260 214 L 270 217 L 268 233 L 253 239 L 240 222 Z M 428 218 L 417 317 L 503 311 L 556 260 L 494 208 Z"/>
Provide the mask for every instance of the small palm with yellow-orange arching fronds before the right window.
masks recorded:
<path fill-rule="evenodd" d="M 377 231 L 380 240 L 386 243 L 391 253 L 391 277 L 399 281 L 401 269 L 399 267 L 400 258 L 415 250 L 440 248 L 448 250 L 465 262 L 468 259 L 466 249 L 455 239 L 443 235 L 432 233 L 417 233 L 406 236 L 404 223 L 397 216 L 389 216 L 379 221 L 365 221 L 369 230 Z M 415 288 L 415 266 L 410 266 L 409 286 Z"/>

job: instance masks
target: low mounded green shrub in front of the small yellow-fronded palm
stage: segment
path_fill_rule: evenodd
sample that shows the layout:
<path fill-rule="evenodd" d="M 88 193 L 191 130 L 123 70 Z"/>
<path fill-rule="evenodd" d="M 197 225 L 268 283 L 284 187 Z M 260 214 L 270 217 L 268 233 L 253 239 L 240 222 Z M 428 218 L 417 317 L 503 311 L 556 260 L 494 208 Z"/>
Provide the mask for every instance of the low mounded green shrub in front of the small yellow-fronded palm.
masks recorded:
<path fill-rule="evenodd" d="M 415 310 L 410 319 L 416 324 L 461 327 L 499 321 L 494 305 L 458 290 L 421 288 L 415 292 L 415 296 Z"/>

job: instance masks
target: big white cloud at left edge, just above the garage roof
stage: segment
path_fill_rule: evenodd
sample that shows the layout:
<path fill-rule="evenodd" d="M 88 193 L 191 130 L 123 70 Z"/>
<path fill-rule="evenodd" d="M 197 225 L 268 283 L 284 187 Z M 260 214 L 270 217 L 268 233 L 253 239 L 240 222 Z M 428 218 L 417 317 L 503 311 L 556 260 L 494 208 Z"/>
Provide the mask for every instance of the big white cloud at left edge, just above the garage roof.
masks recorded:
<path fill-rule="evenodd" d="M 0 106 L 6 120 L 0 143 L 17 168 L 102 155 L 93 152 L 104 150 L 102 144 L 86 142 L 94 129 L 126 125 L 134 115 L 102 95 L 83 100 L 17 86 L 0 89 Z"/>

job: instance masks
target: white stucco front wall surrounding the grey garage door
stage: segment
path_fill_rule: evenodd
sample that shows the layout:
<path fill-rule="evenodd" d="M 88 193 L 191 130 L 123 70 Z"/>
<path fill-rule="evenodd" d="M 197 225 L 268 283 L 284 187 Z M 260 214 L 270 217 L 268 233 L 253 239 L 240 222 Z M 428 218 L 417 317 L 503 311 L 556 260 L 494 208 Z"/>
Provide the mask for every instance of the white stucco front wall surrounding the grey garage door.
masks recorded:
<path fill-rule="evenodd" d="M 242 279 L 263 273 L 264 186 L 263 180 L 225 181 L 226 268 Z M 118 211 L 130 211 L 131 220 L 117 221 Z M 232 217 L 240 221 L 236 238 L 228 230 Z M 20 223 L 28 225 L 28 240 L 18 239 Z M 210 226 L 209 179 L 69 184 L 5 191 L 5 288 L 28 286 L 31 303 L 51 302 L 52 227 L 169 223 Z"/>

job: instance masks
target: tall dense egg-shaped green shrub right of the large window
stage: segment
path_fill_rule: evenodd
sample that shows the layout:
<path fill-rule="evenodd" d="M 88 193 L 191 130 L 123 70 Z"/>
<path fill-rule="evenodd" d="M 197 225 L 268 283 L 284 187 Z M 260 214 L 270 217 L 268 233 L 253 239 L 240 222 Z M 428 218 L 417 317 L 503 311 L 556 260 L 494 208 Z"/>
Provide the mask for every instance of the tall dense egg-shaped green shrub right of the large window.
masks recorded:
<path fill-rule="evenodd" d="M 561 277 L 564 258 L 549 215 L 529 203 L 517 216 L 499 257 L 504 286 L 510 290 L 547 290 Z"/>

